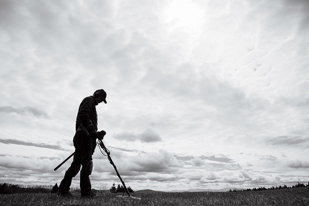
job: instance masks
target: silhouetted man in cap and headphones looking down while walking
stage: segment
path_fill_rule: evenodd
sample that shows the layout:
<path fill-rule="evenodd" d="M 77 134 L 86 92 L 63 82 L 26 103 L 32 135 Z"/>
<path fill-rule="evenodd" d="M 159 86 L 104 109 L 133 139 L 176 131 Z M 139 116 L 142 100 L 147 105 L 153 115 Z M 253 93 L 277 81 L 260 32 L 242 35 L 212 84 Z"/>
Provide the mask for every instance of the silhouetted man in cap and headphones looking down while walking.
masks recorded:
<path fill-rule="evenodd" d="M 71 166 L 66 170 L 66 174 L 59 185 L 58 196 L 70 197 L 69 192 L 72 178 L 75 177 L 80 167 L 80 192 L 82 197 L 95 197 L 91 191 L 89 175 L 92 172 L 92 154 L 96 146 L 96 138 L 103 139 L 104 135 L 97 135 L 98 116 L 95 106 L 106 102 L 106 92 L 103 89 L 96 90 L 92 96 L 83 99 L 79 105 L 75 136 L 73 144 L 75 147 L 74 158 Z M 103 131 L 104 132 L 104 131 Z M 101 133 L 101 132 L 100 132 Z M 106 134 L 106 132 L 104 132 Z"/>

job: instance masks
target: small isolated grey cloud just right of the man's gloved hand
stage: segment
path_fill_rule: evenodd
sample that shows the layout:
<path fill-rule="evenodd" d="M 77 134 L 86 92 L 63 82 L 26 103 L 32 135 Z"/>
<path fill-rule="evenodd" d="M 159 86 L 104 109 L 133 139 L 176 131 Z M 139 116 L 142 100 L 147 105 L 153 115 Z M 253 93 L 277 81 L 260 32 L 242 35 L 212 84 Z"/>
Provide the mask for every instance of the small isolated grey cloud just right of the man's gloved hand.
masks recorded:
<path fill-rule="evenodd" d="M 137 141 L 140 140 L 141 142 L 150 143 L 150 142 L 158 142 L 162 141 L 162 138 L 154 132 L 152 129 L 146 129 L 144 132 L 139 134 L 123 132 L 119 134 L 114 134 L 113 138 L 117 140 L 125 140 L 125 141 Z"/>

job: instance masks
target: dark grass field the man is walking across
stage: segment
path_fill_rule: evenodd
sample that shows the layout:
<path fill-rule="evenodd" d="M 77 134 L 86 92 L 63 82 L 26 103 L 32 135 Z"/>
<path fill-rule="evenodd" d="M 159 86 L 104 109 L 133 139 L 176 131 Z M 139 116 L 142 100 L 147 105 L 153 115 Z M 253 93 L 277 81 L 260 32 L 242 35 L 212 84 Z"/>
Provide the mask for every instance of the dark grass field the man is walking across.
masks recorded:
<path fill-rule="evenodd" d="M 74 193 L 73 193 L 74 194 Z M 82 199 L 79 194 L 73 198 L 58 198 L 56 194 L 10 194 L 0 195 L 2 206 L 190 206 L 190 205 L 309 205 L 309 187 L 288 188 L 267 191 L 242 192 L 182 192 L 182 193 L 133 193 L 142 200 L 123 199 L 106 192 L 94 199 Z"/>

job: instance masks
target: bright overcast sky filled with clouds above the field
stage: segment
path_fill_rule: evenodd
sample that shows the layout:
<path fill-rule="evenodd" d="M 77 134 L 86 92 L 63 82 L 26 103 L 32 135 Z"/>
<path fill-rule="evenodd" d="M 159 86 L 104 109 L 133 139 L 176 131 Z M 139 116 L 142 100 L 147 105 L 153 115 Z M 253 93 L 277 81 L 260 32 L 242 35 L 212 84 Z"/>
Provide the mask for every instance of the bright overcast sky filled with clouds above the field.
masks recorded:
<path fill-rule="evenodd" d="M 133 190 L 309 181 L 307 0 L 0 1 L 0 182 L 60 183 L 83 98 Z M 93 188 L 119 184 L 99 148 Z M 72 187 L 79 186 L 79 174 Z"/>

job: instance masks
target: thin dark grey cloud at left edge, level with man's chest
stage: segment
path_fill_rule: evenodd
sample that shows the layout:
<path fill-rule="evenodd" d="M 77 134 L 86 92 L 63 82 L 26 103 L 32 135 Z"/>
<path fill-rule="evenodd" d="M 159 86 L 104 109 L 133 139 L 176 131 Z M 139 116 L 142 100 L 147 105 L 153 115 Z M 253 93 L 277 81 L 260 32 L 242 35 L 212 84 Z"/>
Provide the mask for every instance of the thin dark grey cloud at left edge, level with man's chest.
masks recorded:
<path fill-rule="evenodd" d="M 49 118 L 49 115 L 45 111 L 37 109 L 35 107 L 14 108 L 11 106 L 4 106 L 0 107 L 0 113 L 16 113 L 23 116 L 31 115 L 35 117 Z"/>

